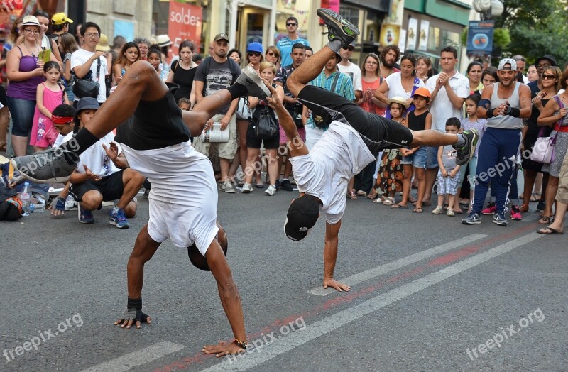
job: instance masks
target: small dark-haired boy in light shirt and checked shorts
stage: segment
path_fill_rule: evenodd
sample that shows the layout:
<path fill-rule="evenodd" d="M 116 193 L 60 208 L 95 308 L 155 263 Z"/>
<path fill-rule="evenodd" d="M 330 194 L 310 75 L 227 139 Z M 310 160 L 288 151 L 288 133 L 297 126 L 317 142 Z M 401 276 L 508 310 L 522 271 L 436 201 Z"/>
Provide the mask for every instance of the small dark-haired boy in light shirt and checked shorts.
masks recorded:
<path fill-rule="evenodd" d="M 457 134 L 461 123 L 457 118 L 449 118 L 446 121 L 446 133 Z M 450 146 L 439 146 L 438 149 L 438 177 L 437 177 L 437 194 L 438 194 L 438 205 L 432 211 L 432 214 L 442 214 L 444 209 L 442 204 L 444 204 L 444 196 L 448 197 L 448 207 L 447 215 L 455 216 L 454 209 L 451 207 L 454 205 L 454 201 L 457 193 L 457 186 L 459 185 L 459 165 L 456 165 L 456 150 Z"/>

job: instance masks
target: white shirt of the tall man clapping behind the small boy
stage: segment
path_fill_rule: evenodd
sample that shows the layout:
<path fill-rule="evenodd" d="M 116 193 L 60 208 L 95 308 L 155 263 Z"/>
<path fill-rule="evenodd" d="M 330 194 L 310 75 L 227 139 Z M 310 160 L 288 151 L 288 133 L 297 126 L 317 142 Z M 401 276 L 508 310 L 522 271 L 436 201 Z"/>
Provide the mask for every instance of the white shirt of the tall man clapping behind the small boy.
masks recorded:
<path fill-rule="evenodd" d="M 430 93 L 435 91 L 438 77 L 439 74 L 434 75 L 426 82 L 426 87 L 430 90 Z M 449 86 L 452 87 L 457 97 L 467 98 L 467 96 L 469 96 L 469 80 L 457 70 L 455 75 L 449 78 Z M 461 120 L 464 118 L 461 113 L 461 106 L 459 109 L 456 109 L 452 105 L 452 102 L 449 101 L 446 88 L 444 87 L 439 89 L 434 102 L 432 102 L 430 114 L 432 114 L 432 129 L 444 133 L 446 132 L 447 119 L 455 117 Z"/>

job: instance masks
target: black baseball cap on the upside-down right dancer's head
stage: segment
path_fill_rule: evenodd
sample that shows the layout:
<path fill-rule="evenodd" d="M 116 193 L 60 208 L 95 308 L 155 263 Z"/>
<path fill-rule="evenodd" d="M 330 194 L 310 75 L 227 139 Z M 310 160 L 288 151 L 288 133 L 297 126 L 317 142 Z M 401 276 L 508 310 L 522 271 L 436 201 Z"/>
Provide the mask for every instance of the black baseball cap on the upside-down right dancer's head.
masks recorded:
<path fill-rule="evenodd" d="M 320 199 L 312 195 L 298 197 L 290 204 L 284 234 L 293 241 L 304 239 L 320 217 Z"/>

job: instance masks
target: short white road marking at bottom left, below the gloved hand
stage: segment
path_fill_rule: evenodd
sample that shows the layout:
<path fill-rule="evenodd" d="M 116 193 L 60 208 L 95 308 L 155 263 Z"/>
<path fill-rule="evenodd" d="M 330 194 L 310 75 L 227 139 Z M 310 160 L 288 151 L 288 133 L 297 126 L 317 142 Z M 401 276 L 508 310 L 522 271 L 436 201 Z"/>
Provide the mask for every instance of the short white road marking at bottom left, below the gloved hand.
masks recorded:
<path fill-rule="evenodd" d="M 162 356 L 172 354 L 175 351 L 183 349 L 182 344 L 174 344 L 173 342 L 158 342 L 144 349 L 133 351 L 130 354 L 121 356 L 120 358 L 98 364 L 91 368 L 84 369 L 81 372 L 123 372 L 141 366 L 145 363 L 159 359 Z"/>

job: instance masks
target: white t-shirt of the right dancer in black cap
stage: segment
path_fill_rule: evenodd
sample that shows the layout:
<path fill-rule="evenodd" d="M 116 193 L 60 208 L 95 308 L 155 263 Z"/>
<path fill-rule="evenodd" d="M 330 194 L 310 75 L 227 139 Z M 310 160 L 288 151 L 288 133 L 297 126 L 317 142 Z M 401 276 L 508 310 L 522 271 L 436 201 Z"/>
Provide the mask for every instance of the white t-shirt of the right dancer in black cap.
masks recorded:
<path fill-rule="evenodd" d="M 290 158 L 298 190 L 322 201 L 320 210 L 329 224 L 337 224 L 346 207 L 351 177 L 375 157 L 348 124 L 332 121 L 309 154 Z"/>

